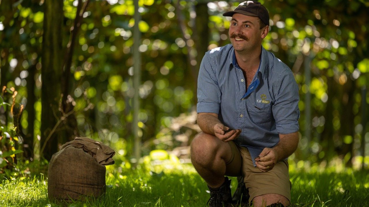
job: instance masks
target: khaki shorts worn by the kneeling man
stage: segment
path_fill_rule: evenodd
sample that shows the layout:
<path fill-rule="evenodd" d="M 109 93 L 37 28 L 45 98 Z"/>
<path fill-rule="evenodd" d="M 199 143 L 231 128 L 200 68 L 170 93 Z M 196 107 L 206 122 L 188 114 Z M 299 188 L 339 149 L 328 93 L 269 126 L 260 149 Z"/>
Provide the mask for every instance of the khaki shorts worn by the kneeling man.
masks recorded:
<path fill-rule="evenodd" d="M 246 147 L 240 147 L 234 141 L 228 142 L 232 149 L 232 157 L 226 163 L 225 175 L 244 176 L 246 188 L 252 201 L 257 196 L 275 193 L 291 201 L 291 182 L 288 173 L 288 161 L 277 162 L 268 172 L 261 172 L 252 164 L 251 156 Z"/>

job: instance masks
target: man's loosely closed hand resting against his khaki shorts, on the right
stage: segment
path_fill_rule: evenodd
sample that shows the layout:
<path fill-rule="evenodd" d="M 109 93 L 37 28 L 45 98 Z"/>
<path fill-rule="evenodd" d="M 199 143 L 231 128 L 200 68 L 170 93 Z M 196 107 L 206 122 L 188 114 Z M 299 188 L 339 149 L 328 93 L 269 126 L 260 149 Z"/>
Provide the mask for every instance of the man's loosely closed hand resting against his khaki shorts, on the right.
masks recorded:
<path fill-rule="evenodd" d="M 277 161 L 278 155 L 273 148 L 264 148 L 259 157 L 255 158 L 255 164 L 261 172 L 268 172 L 273 169 Z"/>

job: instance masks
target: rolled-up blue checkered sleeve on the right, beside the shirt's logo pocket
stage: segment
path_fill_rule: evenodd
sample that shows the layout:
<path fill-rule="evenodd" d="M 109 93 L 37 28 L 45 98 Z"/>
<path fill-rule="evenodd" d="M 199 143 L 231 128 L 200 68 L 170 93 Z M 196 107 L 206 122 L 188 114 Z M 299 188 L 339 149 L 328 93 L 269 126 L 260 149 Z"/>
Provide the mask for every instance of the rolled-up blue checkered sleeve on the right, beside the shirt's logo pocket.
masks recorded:
<path fill-rule="evenodd" d="M 299 130 L 299 87 L 292 71 L 284 70 L 273 84 L 275 102 L 272 107 L 279 134 L 290 134 Z"/>

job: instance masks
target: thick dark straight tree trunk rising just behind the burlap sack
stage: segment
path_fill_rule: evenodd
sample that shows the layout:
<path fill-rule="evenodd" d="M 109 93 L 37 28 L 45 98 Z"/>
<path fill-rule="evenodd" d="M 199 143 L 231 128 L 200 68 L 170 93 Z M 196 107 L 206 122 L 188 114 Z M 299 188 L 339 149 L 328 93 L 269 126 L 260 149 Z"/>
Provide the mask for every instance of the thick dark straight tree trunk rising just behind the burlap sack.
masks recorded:
<path fill-rule="evenodd" d="M 63 1 L 45 0 L 44 8 L 40 154 L 50 160 L 52 154 L 58 150 L 55 126 L 58 123 L 58 117 L 60 117 Z"/>

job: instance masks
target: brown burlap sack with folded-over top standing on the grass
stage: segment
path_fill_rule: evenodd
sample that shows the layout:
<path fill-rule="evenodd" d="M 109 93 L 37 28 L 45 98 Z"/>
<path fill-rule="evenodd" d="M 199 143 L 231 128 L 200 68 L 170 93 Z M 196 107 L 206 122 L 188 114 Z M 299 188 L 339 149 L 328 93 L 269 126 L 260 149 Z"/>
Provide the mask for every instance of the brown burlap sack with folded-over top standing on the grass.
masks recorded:
<path fill-rule="evenodd" d="M 114 153 L 106 145 L 103 150 L 101 145 L 92 139 L 79 137 L 64 144 L 52 156 L 48 169 L 50 200 L 84 200 L 86 196 L 99 197 L 105 193 L 106 168 L 99 164 L 97 159 L 101 159 L 101 156 L 96 154 L 103 154 L 105 160 L 109 159 L 108 163 L 104 162 L 109 165 L 114 164 L 111 159 Z"/>

